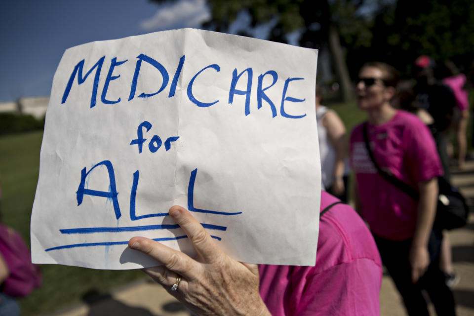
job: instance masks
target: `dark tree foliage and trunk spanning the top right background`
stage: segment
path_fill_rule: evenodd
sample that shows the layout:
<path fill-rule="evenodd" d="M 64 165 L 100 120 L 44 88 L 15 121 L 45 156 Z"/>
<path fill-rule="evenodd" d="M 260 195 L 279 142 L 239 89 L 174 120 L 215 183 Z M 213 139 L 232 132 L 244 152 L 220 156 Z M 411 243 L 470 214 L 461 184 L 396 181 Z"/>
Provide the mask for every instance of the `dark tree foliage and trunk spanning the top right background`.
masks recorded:
<path fill-rule="evenodd" d="M 267 40 L 288 42 L 297 32 L 300 46 L 329 48 L 346 95 L 349 78 L 367 61 L 388 62 L 407 76 L 422 54 L 450 59 L 466 71 L 474 66 L 472 0 L 207 0 L 207 5 L 206 29 L 229 32 L 243 14 L 248 25 L 239 35 L 252 36 L 252 29 L 267 25 Z"/>

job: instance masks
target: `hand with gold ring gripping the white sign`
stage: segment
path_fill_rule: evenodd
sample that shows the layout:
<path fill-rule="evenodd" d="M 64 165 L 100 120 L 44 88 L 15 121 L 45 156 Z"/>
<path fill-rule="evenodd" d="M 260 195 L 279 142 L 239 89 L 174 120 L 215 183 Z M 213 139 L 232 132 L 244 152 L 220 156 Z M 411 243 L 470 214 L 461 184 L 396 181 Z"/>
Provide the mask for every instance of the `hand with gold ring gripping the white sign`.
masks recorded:
<path fill-rule="evenodd" d="M 169 214 L 186 232 L 197 257 L 192 259 L 151 239 L 133 237 L 128 242 L 130 248 L 163 264 L 144 271 L 196 315 L 270 315 L 258 292 L 257 265 L 237 262 L 222 252 L 183 207 L 173 206 Z M 178 277 L 180 282 L 173 290 Z"/>

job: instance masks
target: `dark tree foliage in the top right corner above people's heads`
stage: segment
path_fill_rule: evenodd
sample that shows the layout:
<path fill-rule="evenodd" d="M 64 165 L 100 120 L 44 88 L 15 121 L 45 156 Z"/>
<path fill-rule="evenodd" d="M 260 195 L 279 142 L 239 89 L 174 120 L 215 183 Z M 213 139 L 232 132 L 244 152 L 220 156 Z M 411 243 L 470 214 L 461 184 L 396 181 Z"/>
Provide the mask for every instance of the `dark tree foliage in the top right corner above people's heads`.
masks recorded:
<path fill-rule="evenodd" d="M 466 71 L 474 51 L 474 1 L 398 0 L 377 11 L 369 48 L 353 49 L 348 62 L 381 60 L 411 75 L 419 55 L 450 59 Z"/>

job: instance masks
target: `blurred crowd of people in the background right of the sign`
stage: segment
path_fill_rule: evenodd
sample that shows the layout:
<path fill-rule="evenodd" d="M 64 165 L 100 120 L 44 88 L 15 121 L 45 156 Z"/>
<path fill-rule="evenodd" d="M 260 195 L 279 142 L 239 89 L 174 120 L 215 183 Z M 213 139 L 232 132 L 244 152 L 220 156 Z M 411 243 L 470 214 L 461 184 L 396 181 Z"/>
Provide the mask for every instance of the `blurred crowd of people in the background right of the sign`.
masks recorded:
<path fill-rule="evenodd" d="M 352 168 L 356 211 L 370 228 L 407 313 L 429 315 L 426 290 L 437 315 L 455 315 L 450 287 L 459 276 L 435 213 L 438 179 L 450 186 L 450 166 L 465 163 L 469 82 L 449 60 L 422 55 L 412 69 L 413 77 L 403 80 L 385 63 L 360 69 L 357 105 L 367 120 L 353 129 L 349 151 L 342 120 L 321 106 L 316 87 L 322 185 L 347 202 Z"/>

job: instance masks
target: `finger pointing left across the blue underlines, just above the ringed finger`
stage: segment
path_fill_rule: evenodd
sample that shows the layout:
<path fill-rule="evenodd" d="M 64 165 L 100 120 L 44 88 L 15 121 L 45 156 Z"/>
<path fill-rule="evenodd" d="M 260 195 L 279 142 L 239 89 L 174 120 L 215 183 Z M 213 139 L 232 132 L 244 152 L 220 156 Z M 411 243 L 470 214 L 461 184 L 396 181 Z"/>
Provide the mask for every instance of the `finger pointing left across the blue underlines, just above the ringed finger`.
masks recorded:
<path fill-rule="evenodd" d="M 188 279 L 193 279 L 193 275 L 200 273 L 200 267 L 195 260 L 183 252 L 171 249 L 158 241 L 146 237 L 132 237 L 128 241 L 128 246 L 149 255 L 167 269 Z"/>

